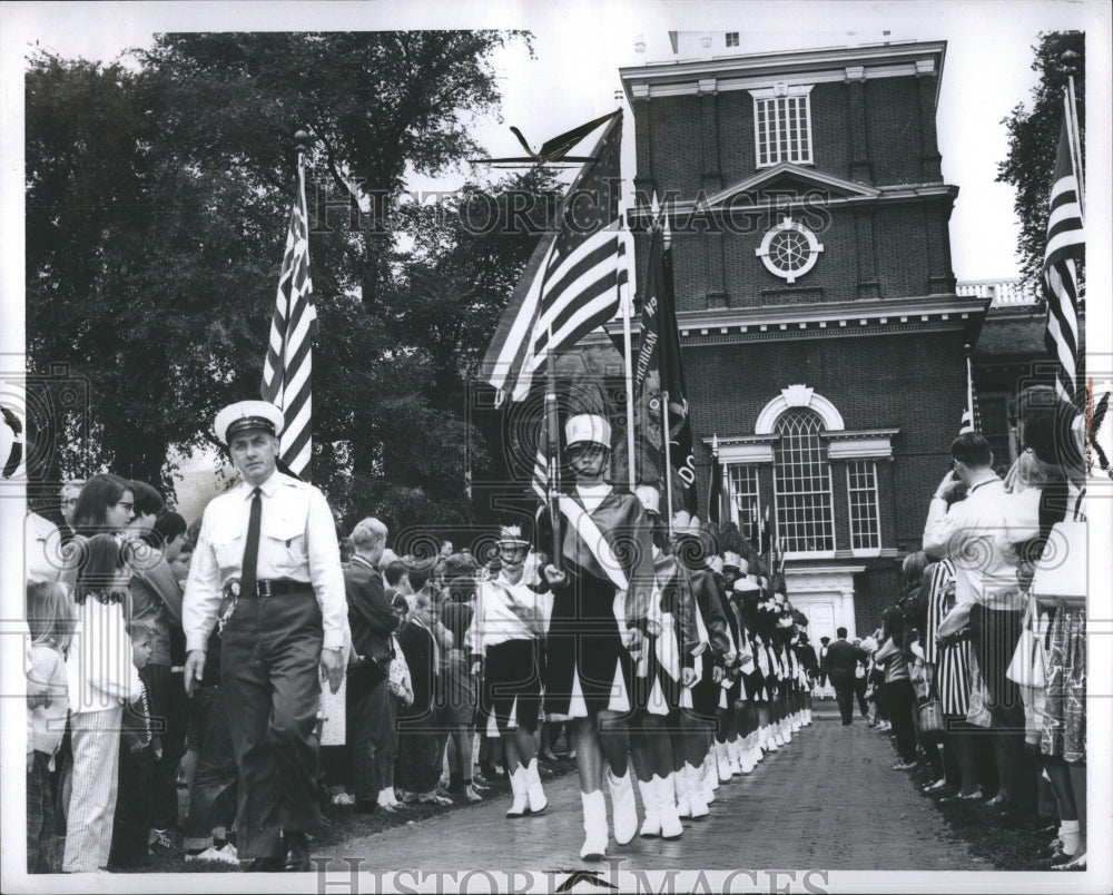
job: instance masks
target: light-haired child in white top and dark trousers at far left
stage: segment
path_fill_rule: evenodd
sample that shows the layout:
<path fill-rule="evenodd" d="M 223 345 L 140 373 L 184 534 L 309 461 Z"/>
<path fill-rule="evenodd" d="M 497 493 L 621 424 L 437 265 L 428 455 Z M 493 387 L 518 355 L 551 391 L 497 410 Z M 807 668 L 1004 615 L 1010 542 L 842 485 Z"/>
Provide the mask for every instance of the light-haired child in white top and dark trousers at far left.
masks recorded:
<path fill-rule="evenodd" d="M 66 651 L 73 636 L 73 603 L 56 581 L 27 587 L 31 635 L 27 671 L 27 872 L 56 873 L 55 804 L 50 771 L 66 730 L 69 699 Z"/>

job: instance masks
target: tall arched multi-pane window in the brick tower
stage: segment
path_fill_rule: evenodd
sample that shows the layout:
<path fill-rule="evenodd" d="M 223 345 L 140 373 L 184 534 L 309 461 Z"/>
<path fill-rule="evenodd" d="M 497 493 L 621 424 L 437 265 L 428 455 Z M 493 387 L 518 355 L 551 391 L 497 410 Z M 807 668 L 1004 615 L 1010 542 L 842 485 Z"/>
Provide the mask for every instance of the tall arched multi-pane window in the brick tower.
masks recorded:
<path fill-rule="evenodd" d="M 835 549 L 835 517 L 827 449 L 814 411 L 791 407 L 777 420 L 780 448 L 774 466 L 777 488 L 777 538 L 787 553 Z"/>

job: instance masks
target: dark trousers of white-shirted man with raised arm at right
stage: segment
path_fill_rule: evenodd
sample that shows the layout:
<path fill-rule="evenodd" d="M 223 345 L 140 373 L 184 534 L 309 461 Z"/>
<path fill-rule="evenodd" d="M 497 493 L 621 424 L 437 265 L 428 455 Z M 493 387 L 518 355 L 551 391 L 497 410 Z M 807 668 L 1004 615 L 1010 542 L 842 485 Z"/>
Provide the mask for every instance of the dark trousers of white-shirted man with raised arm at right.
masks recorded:
<path fill-rule="evenodd" d="M 978 668 L 993 702 L 994 732 L 1005 756 L 998 768 L 1008 787 L 1008 799 L 1017 813 L 1036 810 L 1035 765 L 1024 751 L 1024 704 L 1021 690 L 1005 676 L 1021 639 L 1022 613 L 971 607 L 971 639 Z"/>

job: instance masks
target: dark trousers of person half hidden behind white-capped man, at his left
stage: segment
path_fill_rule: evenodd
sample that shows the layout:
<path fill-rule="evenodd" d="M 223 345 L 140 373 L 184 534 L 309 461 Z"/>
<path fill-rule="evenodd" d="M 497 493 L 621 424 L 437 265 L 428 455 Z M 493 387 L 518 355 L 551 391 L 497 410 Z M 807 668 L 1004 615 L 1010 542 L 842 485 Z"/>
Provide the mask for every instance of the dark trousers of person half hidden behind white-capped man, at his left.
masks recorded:
<path fill-rule="evenodd" d="M 198 745 L 183 843 L 187 849 L 210 846 L 213 828 L 232 826 L 235 816 L 228 810 L 228 794 L 236 786 L 236 753 L 221 689 L 200 687 L 194 692 L 193 708 Z"/>

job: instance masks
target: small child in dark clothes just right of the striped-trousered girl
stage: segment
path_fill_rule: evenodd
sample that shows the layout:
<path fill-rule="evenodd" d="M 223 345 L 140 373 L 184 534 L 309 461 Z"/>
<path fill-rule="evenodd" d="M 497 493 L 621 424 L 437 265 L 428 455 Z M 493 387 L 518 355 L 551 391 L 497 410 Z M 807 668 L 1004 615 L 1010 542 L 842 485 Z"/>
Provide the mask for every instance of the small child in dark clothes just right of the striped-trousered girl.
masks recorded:
<path fill-rule="evenodd" d="M 155 622 L 132 621 L 131 660 L 137 671 L 150 661 L 158 637 Z M 147 830 L 150 828 L 151 788 L 159 741 L 151 736 L 150 702 L 146 685 L 139 699 L 124 709 L 120 730 L 119 789 L 116 794 L 116 818 L 109 867 L 124 869 L 148 863 Z"/>

